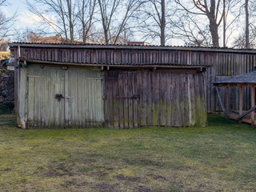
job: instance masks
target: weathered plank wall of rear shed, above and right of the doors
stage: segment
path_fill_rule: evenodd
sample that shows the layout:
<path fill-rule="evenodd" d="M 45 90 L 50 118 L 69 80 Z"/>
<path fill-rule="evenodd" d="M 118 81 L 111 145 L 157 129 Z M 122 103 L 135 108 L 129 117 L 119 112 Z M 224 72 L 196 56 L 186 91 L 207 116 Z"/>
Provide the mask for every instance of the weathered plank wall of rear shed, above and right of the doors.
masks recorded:
<path fill-rule="evenodd" d="M 221 110 L 211 82 L 246 74 L 256 66 L 256 50 L 233 50 L 176 46 L 101 46 L 13 43 L 10 50 L 20 57 L 46 62 L 89 63 L 110 66 L 212 66 L 205 74 L 207 112 Z M 221 90 L 224 95 L 225 89 Z M 230 109 L 238 109 L 238 89 L 230 88 Z M 250 90 L 243 90 L 244 110 L 250 107 Z M 223 100 L 225 97 L 222 98 Z"/>

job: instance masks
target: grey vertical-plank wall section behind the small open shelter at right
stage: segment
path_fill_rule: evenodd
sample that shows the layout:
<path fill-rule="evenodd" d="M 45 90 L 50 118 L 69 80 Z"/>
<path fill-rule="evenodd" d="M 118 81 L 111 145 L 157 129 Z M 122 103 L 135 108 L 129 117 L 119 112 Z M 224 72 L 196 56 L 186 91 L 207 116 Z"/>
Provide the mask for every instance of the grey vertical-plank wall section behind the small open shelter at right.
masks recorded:
<path fill-rule="evenodd" d="M 206 102 L 207 112 L 212 113 L 214 111 L 222 111 L 222 108 L 218 102 L 216 90 L 211 82 L 230 78 L 234 75 L 246 74 L 254 70 L 256 66 L 256 53 L 218 53 L 214 58 L 214 66 L 208 68 L 206 71 Z M 238 88 L 230 87 L 230 110 L 238 110 Z M 222 101 L 226 102 L 226 90 L 225 87 L 220 89 L 222 95 Z M 247 110 L 250 108 L 250 89 L 243 89 L 243 109 Z"/>

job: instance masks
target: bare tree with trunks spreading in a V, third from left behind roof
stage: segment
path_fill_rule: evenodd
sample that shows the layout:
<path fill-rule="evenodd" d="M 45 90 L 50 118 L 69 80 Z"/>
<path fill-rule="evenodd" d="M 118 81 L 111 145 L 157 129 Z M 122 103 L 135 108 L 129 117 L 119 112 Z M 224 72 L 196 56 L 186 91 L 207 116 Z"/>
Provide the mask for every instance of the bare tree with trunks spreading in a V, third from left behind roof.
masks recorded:
<path fill-rule="evenodd" d="M 138 0 L 98 0 L 106 44 L 116 44 L 120 34 L 127 30 L 128 22 L 138 9 Z"/>

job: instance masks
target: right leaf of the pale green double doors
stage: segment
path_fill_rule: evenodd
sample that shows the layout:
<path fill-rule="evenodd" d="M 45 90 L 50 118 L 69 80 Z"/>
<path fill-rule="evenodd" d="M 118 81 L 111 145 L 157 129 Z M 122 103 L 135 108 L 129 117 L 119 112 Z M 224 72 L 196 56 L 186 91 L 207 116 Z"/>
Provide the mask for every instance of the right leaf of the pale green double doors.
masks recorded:
<path fill-rule="evenodd" d="M 66 126 L 72 128 L 102 126 L 102 72 L 68 70 L 66 86 Z"/>

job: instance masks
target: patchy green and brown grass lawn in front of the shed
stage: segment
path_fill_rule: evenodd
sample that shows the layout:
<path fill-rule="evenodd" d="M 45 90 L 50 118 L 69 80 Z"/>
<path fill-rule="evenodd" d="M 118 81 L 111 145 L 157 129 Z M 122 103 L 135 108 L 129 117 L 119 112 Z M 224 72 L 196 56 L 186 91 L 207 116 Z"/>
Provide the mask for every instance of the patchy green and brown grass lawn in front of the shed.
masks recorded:
<path fill-rule="evenodd" d="M 256 129 L 20 130 L 0 116 L 0 191 L 255 191 Z"/>

